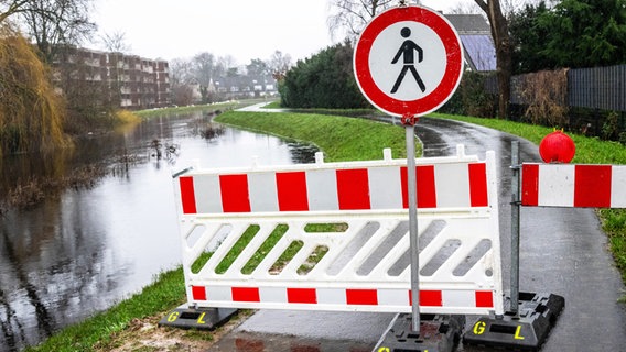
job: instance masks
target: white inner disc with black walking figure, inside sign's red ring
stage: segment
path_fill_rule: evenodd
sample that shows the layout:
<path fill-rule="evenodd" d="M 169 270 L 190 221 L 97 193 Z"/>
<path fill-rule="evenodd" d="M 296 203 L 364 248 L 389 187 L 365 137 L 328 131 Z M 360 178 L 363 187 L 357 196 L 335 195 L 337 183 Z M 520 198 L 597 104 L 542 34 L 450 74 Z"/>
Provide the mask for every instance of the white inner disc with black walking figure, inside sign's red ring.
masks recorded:
<path fill-rule="evenodd" d="M 369 53 L 371 78 L 398 100 L 417 100 L 433 92 L 445 66 L 445 47 L 439 35 L 413 21 L 389 25 L 376 37 Z"/>

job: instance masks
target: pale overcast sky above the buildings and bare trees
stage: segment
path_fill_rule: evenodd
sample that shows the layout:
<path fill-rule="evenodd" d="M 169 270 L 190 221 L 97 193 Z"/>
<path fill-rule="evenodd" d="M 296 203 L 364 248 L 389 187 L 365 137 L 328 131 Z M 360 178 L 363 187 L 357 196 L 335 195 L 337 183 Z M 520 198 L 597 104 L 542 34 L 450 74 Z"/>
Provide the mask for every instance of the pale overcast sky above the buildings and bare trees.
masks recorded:
<path fill-rule="evenodd" d="M 423 0 L 447 11 L 460 1 Z M 238 64 L 273 52 L 293 62 L 333 44 L 327 0 L 95 0 L 99 33 L 123 33 L 130 53 L 147 58 L 191 58 L 208 52 Z M 87 45 L 105 50 L 98 44 Z"/>

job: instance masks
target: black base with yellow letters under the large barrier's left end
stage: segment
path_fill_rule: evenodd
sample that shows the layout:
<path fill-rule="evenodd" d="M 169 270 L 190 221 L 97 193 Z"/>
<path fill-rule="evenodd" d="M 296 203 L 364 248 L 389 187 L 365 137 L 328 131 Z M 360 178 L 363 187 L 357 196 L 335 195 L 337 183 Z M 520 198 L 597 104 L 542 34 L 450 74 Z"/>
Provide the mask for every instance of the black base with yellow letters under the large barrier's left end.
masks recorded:
<path fill-rule="evenodd" d="M 181 329 L 213 330 L 225 323 L 237 309 L 234 308 L 190 308 L 182 305 L 159 321 L 160 327 Z"/>

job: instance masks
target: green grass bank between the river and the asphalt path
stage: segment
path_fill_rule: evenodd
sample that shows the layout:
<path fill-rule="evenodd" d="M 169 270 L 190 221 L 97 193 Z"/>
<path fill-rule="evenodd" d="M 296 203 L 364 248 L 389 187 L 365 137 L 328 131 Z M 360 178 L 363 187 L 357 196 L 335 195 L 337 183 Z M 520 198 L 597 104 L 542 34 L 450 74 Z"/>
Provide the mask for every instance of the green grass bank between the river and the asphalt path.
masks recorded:
<path fill-rule="evenodd" d="M 219 120 L 314 143 L 324 151 L 327 161 L 379 160 L 382 157 L 384 147 L 391 147 L 395 157 L 404 155 L 404 131 L 399 127 L 373 121 L 316 114 L 237 111 L 226 112 Z M 133 321 L 163 317 L 185 300 L 182 270 L 162 273 L 140 294 L 82 323 L 64 329 L 26 351 L 109 351 L 126 339 L 128 331 L 133 329 Z M 147 331 L 132 333 L 142 337 L 149 334 Z M 193 331 L 185 333 L 191 334 L 190 339 L 198 339 L 199 334 Z M 202 332 L 201 339 L 211 340 L 212 333 Z M 142 351 L 154 350 L 142 348 Z"/>

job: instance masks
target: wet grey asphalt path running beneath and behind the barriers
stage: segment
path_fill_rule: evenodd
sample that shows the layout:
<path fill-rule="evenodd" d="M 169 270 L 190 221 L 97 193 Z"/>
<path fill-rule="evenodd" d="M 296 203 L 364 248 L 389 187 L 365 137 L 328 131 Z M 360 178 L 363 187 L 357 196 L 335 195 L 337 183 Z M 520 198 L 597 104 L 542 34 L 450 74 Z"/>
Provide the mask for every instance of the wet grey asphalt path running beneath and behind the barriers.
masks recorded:
<path fill-rule="evenodd" d="M 439 119 L 422 119 L 417 134 L 424 144 L 424 156 L 451 155 L 457 144 L 481 158 L 486 151 L 496 152 L 504 286 L 508 292 L 510 144 L 519 139 Z M 536 145 L 519 142 L 522 162 L 540 161 Z M 594 210 L 522 208 L 520 231 L 520 290 L 565 298 L 565 309 L 542 351 L 626 351 L 626 307 L 617 302 L 626 294 L 625 287 Z M 259 310 L 209 351 L 371 351 L 392 318 L 392 314 Z M 466 328 L 475 319 L 468 316 Z M 496 350 L 460 345 L 457 351 Z"/>

